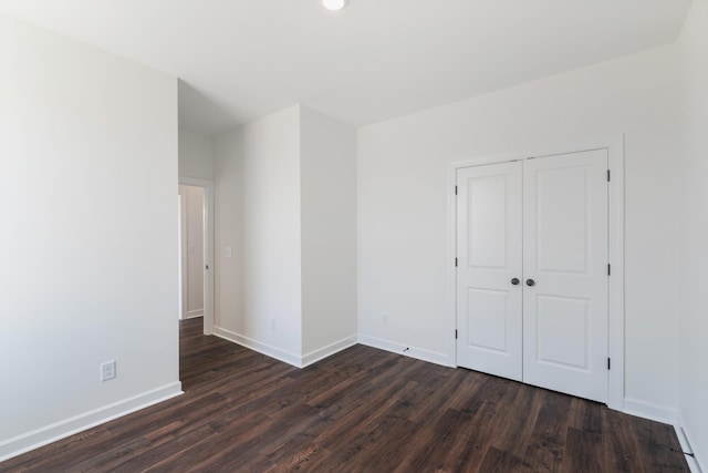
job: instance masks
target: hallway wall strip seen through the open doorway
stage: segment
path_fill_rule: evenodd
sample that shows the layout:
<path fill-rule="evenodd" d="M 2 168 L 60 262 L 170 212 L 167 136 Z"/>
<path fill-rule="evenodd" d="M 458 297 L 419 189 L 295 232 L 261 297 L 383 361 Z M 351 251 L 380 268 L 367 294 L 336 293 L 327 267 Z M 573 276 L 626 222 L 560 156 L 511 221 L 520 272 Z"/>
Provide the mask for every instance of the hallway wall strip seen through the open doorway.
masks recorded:
<path fill-rule="evenodd" d="M 204 316 L 204 187 L 179 186 L 181 197 L 180 318 Z"/>

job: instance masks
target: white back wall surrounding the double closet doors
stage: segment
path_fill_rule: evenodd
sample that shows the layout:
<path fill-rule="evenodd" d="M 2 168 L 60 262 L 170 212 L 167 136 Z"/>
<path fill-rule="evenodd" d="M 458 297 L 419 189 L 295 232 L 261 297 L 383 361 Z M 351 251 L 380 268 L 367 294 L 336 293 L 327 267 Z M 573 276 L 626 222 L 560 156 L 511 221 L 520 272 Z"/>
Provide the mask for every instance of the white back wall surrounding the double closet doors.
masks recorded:
<path fill-rule="evenodd" d="M 675 59 L 664 47 L 360 128 L 362 339 L 454 363 L 450 163 L 625 133 L 625 394 L 636 409 L 670 417 L 678 397 Z"/>

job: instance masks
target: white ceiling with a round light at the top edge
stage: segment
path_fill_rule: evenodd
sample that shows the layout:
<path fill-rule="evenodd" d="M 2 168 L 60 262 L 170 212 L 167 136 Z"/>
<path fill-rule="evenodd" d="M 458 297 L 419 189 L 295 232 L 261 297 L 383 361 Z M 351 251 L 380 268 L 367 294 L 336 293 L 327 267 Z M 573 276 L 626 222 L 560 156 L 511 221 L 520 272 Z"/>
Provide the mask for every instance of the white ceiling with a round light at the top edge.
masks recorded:
<path fill-rule="evenodd" d="M 302 103 L 355 126 L 676 40 L 689 0 L 0 0 L 179 78 L 216 134 Z"/>

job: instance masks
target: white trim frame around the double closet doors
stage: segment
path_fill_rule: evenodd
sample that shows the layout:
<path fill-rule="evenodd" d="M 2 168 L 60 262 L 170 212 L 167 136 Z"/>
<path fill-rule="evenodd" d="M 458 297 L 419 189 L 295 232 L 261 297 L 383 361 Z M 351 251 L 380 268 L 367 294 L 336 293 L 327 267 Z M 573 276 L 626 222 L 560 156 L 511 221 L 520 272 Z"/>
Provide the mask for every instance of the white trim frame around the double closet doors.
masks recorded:
<path fill-rule="evenodd" d="M 553 156 L 590 150 L 607 150 L 611 173 L 608 186 L 608 248 L 612 275 L 608 287 L 608 321 L 607 321 L 607 353 L 612 359 L 612 367 L 607 379 L 607 407 L 617 411 L 624 410 L 624 135 L 596 140 L 589 143 L 538 150 L 535 152 L 514 153 L 500 156 L 482 156 L 450 164 L 448 176 L 448 307 L 450 333 L 457 329 L 456 307 L 456 268 L 457 255 L 457 199 L 455 186 L 457 169 L 479 166 L 482 164 L 522 161 L 529 157 Z M 452 338 L 449 353 L 457 367 L 457 341 Z"/>

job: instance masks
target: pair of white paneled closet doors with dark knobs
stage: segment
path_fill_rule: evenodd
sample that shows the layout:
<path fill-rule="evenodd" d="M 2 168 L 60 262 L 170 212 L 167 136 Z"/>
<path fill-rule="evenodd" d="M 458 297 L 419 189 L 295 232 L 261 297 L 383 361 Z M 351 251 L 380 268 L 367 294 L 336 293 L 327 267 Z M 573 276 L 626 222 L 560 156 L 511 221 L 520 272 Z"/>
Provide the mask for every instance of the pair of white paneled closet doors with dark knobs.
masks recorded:
<path fill-rule="evenodd" d="M 607 151 L 458 169 L 457 364 L 607 401 Z"/>

